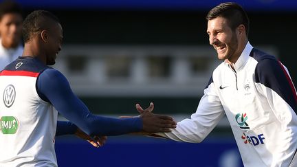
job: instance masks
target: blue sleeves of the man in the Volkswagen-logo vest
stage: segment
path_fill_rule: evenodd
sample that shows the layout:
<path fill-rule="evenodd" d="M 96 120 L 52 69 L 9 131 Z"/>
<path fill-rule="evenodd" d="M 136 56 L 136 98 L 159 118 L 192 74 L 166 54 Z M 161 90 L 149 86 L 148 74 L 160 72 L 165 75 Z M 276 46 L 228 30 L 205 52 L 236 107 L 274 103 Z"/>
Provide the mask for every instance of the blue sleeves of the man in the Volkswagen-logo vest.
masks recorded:
<path fill-rule="evenodd" d="M 56 69 L 45 69 L 37 79 L 36 89 L 41 99 L 50 102 L 58 113 L 88 135 L 122 135 L 142 130 L 141 118 L 107 118 L 90 113 Z M 74 124 L 58 122 L 56 134 L 74 133 Z"/>

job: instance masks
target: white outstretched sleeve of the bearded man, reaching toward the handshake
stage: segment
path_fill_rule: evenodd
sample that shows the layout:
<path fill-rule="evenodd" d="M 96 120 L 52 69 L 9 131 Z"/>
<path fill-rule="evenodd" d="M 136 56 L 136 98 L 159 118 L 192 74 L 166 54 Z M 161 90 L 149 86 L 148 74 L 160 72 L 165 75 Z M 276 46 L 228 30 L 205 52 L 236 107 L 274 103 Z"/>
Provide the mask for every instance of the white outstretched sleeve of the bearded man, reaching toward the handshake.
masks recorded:
<path fill-rule="evenodd" d="M 172 129 L 170 133 L 156 133 L 155 135 L 175 141 L 202 142 L 225 115 L 216 91 L 212 82 L 204 89 L 204 95 L 199 102 L 197 111 L 191 115 L 190 119 L 177 122 L 177 128 Z"/>

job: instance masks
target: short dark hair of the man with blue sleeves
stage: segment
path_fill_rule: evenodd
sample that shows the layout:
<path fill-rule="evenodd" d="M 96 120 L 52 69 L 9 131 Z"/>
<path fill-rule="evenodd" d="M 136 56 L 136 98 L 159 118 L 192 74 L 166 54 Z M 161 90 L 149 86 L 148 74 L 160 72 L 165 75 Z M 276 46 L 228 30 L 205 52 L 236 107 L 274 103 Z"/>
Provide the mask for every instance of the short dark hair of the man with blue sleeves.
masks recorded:
<path fill-rule="evenodd" d="M 23 41 L 27 43 L 32 36 L 48 28 L 50 21 L 60 23 L 58 18 L 46 10 L 35 10 L 23 21 Z"/>

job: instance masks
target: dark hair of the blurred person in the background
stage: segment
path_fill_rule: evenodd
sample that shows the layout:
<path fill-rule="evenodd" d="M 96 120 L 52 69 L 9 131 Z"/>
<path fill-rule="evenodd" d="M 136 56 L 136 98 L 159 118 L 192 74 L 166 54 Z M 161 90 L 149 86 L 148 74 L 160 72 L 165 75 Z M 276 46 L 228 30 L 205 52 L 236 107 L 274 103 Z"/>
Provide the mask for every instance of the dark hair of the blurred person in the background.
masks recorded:
<path fill-rule="evenodd" d="M 10 14 L 10 13 L 17 13 L 23 16 L 23 10 L 21 8 L 21 5 L 19 3 L 14 2 L 14 1 L 2 1 L 0 3 L 0 20 L 5 14 Z"/>

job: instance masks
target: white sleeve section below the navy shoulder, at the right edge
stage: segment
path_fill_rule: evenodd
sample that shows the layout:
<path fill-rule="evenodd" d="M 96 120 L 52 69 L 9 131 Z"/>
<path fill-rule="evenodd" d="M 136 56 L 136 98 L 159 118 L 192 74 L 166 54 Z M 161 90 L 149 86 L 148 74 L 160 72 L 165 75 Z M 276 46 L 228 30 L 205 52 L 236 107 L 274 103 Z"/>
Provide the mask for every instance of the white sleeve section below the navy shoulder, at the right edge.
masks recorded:
<path fill-rule="evenodd" d="M 281 132 L 278 135 L 282 142 L 276 142 L 278 149 L 274 151 L 272 166 L 289 166 L 292 163 L 296 164 L 297 159 L 293 160 L 296 154 L 297 143 L 297 115 L 292 107 L 281 98 L 275 91 L 265 85 L 257 85 L 257 89 L 267 98 L 267 102 L 272 109 L 276 120 L 281 124 Z M 281 146 L 280 146 L 281 145 Z"/>

